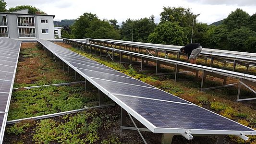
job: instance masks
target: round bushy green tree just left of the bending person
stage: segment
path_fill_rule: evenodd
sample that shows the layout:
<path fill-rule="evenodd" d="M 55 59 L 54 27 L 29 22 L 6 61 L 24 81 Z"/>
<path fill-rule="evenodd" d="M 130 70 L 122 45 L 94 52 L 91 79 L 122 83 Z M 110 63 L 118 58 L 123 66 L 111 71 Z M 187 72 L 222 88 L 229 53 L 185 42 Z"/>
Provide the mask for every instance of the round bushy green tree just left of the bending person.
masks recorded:
<path fill-rule="evenodd" d="M 188 39 L 184 35 L 183 28 L 177 23 L 163 22 L 149 35 L 148 42 L 184 46 L 188 44 Z"/>

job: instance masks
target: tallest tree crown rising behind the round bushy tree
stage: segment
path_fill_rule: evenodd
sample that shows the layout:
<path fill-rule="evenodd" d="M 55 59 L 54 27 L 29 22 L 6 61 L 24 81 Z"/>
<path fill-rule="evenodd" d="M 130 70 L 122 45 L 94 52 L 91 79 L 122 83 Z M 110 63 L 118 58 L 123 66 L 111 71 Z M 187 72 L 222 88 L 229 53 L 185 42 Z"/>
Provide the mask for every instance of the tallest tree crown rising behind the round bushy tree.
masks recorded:
<path fill-rule="evenodd" d="M 191 9 L 185 9 L 183 7 L 164 7 L 163 9 L 164 11 L 160 13 L 161 19 L 159 24 L 169 21 L 172 23 L 177 23 L 181 27 L 192 26 L 193 19 L 196 22 L 196 18 L 199 15 L 191 12 Z"/>

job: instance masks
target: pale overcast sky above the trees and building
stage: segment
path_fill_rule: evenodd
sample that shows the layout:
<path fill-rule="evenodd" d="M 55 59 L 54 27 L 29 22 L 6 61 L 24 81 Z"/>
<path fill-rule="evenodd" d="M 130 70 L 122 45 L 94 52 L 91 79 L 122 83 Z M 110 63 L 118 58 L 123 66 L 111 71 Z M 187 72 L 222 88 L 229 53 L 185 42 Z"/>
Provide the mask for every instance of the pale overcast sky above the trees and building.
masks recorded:
<path fill-rule="evenodd" d="M 7 8 L 17 5 L 33 5 L 55 15 L 55 21 L 77 19 L 84 12 L 91 12 L 100 19 L 116 19 L 118 24 L 130 19 L 155 16 L 159 23 L 163 7 L 191 8 L 200 14 L 198 21 L 212 24 L 226 18 L 237 8 L 250 15 L 256 13 L 256 0 L 5 0 Z"/>

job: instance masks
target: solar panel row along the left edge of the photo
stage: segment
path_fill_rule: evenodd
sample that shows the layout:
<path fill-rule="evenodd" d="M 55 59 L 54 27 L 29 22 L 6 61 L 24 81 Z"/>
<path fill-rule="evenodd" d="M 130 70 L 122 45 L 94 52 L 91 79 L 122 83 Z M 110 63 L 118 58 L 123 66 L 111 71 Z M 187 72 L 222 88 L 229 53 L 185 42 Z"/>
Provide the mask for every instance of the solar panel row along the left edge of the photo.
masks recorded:
<path fill-rule="evenodd" d="M 18 40 L 0 38 L 0 144 L 3 141 L 20 46 Z"/>

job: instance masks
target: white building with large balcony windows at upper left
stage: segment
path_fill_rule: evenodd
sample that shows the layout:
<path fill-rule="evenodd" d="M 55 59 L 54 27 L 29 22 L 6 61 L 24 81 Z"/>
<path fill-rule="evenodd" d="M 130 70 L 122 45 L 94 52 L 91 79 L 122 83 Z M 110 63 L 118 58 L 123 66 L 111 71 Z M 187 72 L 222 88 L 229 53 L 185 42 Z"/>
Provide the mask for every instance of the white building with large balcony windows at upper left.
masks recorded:
<path fill-rule="evenodd" d="M 28 10 L 0 12 L 0 36 L 54 39 L 54 15 L 29 14 Z"/>

